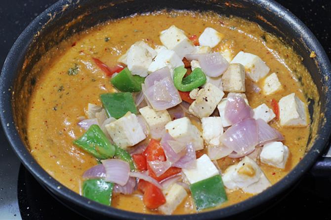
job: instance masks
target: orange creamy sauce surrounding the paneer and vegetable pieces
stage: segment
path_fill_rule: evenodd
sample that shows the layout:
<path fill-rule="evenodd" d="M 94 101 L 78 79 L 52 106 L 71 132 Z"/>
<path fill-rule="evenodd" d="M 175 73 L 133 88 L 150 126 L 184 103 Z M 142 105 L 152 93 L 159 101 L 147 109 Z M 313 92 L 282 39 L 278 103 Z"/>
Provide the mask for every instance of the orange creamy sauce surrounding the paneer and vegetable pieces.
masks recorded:
<path fill-rule="evenodd" d="M 77 125 L 79 118 L 85 116 L 87 103 L 101 105 L 99 95 L 114 92 L 109 78 L 93 63 L 92 57 L 113 66 L 118 57 L 138 40 L 144 40 L 152 47 L 161 45 L 159 32 L 171 25 L 184 30 L 187 36 L 199 36 L 206 27 L 214 28 L 225 35 L 222 42 L 213 48 L 214 51 L 220 50 L 222 45 L 229 45 L 233 55 L 240 51 L 255 54 L 270 67 L 270 73 L 277 73 L 284 91 L 271 96 L 253 92 L 251 81 L 246 80 L 246 94 L 252 108 L 262 103 L 271 108 L 272 98 L 278 101 L 291 93 L 307 104 L 302 86 L 295 77 L 295 72 L 308 76 L 307 70 L 297 62 L 294 52 L 255 23 L 192 12 L 158 12 L 109 21 L 71 37 L 60 44 L 56 52 L 45 55 L 51 59 L 42 63 L 43 72 L 37 78 L 27 110 L 31 154 L 51 176 L 69 189 L 81 193 L 83 172 L 97 164 L 94 157 L 73 145 L 73 140 L 84 132 Z M 68 69 L 74 67 L 75 63 L 78 65 L 78 74 L 68 75 Z M 290 149 L 285 170 L 259 164 L 270 182 L 275 184 L 303 157 L 309 127 L 285 128 L 275 120 L 271 125 L 285 136 L 284 144 Z M 228 157 L 218 160 L 223 171 L 236 162 L 238 159 Z M 227 191 L 227 196 L 228 201 L 220 207 L 238 203 L 252 195 L 237 190 Z M 136 195 L 114 195 L 112 205 L 133 212 L 157 213 L 144 207 L 139 192 Z M 194 212 L 193 201 L 187 197 L 174 214 Z"/>

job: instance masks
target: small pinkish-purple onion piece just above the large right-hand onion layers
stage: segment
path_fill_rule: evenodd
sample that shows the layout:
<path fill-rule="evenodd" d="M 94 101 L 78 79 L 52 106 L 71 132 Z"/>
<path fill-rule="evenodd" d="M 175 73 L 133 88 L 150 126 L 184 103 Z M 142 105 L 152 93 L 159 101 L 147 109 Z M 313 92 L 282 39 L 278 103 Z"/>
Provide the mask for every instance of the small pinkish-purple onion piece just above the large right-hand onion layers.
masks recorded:
<path fill-rule="evenodd" d="M 239 95 L 228 97 L 225 105 L 225 119 L 234 125 L 244 119 L 253 117 L 253 110 L 246 104 L 245 99 Z"/>

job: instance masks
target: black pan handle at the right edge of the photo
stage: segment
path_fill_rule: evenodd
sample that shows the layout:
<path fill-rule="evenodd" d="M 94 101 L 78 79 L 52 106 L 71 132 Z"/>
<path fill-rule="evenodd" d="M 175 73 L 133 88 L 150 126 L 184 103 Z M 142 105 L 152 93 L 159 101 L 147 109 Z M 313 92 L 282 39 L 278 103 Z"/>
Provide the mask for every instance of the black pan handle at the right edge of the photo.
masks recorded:
<path fill-rule="evenodd" d="M 317 159 L 310 172 L 316 177 L 331 177 L 331 143 L 323 156 Z"/>

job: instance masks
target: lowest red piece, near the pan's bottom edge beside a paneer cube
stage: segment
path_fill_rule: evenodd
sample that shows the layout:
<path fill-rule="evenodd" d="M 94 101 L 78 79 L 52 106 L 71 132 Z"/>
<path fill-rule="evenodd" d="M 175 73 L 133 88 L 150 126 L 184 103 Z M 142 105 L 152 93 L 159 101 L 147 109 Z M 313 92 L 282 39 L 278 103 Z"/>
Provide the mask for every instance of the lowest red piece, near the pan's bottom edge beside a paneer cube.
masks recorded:
<path fill-rule="evenodd" d="M 148 183 L 148 182 L 147 182 Z M 148 183 L 145 187 L 143 202 L 149 209 L 156 209 L 165 204 L 165 195 L 162 190 L 154 184 Z"/>

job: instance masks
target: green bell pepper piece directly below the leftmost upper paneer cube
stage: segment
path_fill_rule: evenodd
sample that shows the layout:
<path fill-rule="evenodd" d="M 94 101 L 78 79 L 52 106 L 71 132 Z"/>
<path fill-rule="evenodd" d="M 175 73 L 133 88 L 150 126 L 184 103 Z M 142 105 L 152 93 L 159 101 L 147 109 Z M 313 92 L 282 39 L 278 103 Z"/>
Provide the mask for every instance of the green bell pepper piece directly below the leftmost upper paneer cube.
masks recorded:
<path fill-rule="evenodd" d="M 110 82 L 121 92 L 140 92 L 141 84 L 145 81 L 144 77 L 132 75 L 130 70 L 125 67 L 119 74 L 114 76 Z"/>

